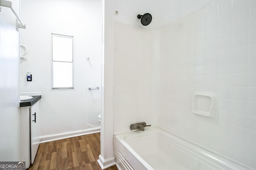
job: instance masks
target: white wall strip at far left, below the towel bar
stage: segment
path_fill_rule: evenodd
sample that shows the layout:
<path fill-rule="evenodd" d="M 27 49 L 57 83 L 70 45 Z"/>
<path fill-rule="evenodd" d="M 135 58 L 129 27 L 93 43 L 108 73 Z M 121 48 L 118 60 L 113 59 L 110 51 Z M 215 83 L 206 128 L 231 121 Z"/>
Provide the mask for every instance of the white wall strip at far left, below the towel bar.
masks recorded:
<path fill-rule="evenodd" d="M 19 14 L 20 1 L 12 0 Z M 20 161 L 19 32 L 10 8 L 0 12 L 0 161 Z"/>

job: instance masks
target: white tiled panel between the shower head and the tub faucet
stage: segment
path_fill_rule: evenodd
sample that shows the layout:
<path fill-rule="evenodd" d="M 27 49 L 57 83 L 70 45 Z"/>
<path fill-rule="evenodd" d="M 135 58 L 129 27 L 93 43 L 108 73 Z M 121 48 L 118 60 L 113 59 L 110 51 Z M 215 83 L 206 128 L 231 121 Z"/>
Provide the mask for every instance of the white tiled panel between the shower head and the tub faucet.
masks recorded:
<path fill-rule="evenodd" d="M 114 24 L 114 134 L 151 119 L 151 64 L 156 30 Z"/>

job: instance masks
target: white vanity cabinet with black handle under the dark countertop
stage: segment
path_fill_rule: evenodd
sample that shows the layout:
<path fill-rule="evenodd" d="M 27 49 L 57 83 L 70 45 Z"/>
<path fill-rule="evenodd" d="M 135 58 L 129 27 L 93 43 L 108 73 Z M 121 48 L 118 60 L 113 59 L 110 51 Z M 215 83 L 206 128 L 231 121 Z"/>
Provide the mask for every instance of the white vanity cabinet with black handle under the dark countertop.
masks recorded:
<path fill-rule="evenodd" d="M 20 107 L 20 156 L 26 168 L 34 163 L 40 142 L 40 100 L 32 106 Z"/>

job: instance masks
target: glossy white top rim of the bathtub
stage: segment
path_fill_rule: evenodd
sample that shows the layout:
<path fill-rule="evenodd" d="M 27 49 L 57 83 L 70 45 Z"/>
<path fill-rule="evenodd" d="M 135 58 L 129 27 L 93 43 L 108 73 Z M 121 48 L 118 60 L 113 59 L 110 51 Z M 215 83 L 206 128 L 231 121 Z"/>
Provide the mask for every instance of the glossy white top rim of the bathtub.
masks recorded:
<path fill-rule="evenodd" d="M 180 142 L 181 141 L 181 144 L 182 146 L 186 146 L 184 147 L 185 150 L 181 150 L 182 152 L 185 152 L 187 153 L 188 155 L 190 155 L 187 151 L 189 152 L 192 152 L 191 150 L 197 150 L 197 152 L 199 154 L 202 154 L 202 155 L 205 155 L 206 158 L 200 156 L 203 160 L 204 160 L 204 164 L 206 162 L 210 162 L 211 164 L 214 164 L 216 165 L 214 162 L 210 161 L 211 160 L 215 160 L 218 164 L 220 164 L 221 166 L 219 165 L 216 165 L 220 168 L 222 168 L 223 166 L 227 167 L 227 168 L 230 168 L 232 170 L 254 170 L 252 167 L 250 166 L 247 166 L 245 164 L 242 164 L 241 162 L 238 162 L 236 160 L 233 160 L 231 158 L 228 158 L 227 156 L 224 156 L 214 150 L 211 150 L 209 148 L 206 148 L 205 146 L 202 146 L 200 144 L 197 144 L 195 142 L 192 142 L 191 140 L 188 140 L 186 138 L 182 138 L 181 136 L 179 135 L 176 135 L 176 134 L 173 134 L 172 132 L 164 129 L 164 128 L 159 128 L 159 127 L 150 127 L 150 128 L 145 128 L 145 131 L 148 132 L 148 131 L 152 131 L 152 130 L 159 130 L 160 132 L 164 133 L 164 134 L 167 134 L 168 135 L 168 138 L 171 138 L 172 140 L 174 140 L 175 142 Z M 144 132 L 145 132 L 144 131 Z M 150 166 L 150 164 L 148 164 L 139 154 L 137 154 L 137 152 L 135 152 L 135 150 L 125 141 L 125 137 L 127 135 L 131 135 L 131 134 L 135 134 L 135 135 L 138 135 L 140 133 L 143 133 L 142 131 L 140 130 L 135 130 L 135 131 L 131 131 L 131 132 L 126 132 L 126 133 L 122 133 L 122 134 L 116 134 L 114 135 L 114 137 L 116 137 L 128 150 L 129 152 L 131 152 L 134 156 L 136 156 L 136 158 L 145 166 L 145 167 L 150 167 L 149 169 L 150 170 L 154 170 L 154 168 L 152 168 Z M 170 136 L 169 136 L 170 135 Z M 190 148 L 191 149 L 188 149 Z M 114 148 L 116 149 L 116 148 Z M 195 154 L 195 153 L 194 153 Z M 190 155 L 191 156 L 191 155 Z M 197 159 L 197 158 L 196 158 Z M 202 160 L 200 160 L 202 161 Z M 241 169 L 242 168 L 242 169 Z"/>

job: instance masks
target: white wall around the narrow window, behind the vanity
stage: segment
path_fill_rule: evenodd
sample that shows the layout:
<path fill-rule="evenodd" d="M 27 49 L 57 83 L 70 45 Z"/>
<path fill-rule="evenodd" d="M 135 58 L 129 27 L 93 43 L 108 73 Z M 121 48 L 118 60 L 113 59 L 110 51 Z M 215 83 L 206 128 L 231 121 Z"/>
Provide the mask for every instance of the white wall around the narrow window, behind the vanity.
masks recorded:
<path fill-rule="evenodd" d="M 22 0 L 21 13 L 27 25 L 21 44 L 28 52 L 20 64 L 20 91 L 42 92 L 41 136 L 99 127 L 101 0 Z M 74 89 L 51 89 L 51 33 L 74 36 Z M 26 81 L 26 72 L 31 72 L 32 82 Z M 100 90 L 88 90 L 96 86 Z"/>

